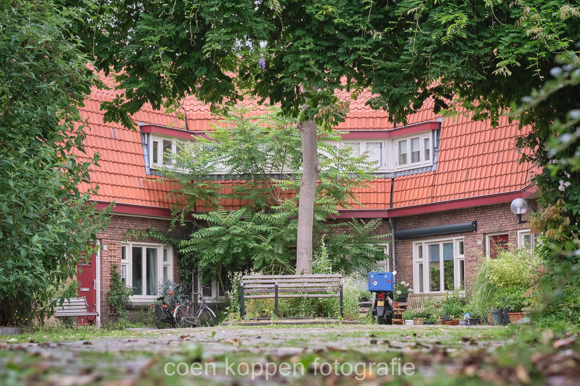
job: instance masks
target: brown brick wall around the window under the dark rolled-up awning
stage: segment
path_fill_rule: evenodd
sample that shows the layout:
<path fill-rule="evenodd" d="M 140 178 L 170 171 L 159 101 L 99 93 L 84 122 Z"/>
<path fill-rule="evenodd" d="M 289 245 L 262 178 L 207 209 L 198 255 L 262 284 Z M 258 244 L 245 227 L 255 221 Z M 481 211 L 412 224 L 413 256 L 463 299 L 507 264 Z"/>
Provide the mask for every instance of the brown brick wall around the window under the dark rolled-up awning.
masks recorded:
<path fill-rule="evenodd" d="M 466 284 L 469 285 L 473 276 L 473 266 L 477 262 L 478 253 L 486 252 L 485 237 L 487 234 L 507 232 L 510 244 L 517 245 L 517 230 L 527 229 L 526 224 L 518 225 L 516 223 L 516 215 L 514 215 L 510 210 L 510 203 L 393 218 L 396 230 L 453 224 L 473 220 L 477 220 L 476 232 L 466 231 L 396 240 L 395 252 L 397 280 L 413 283 L 412 243 L 414 241 L 436 240 L 440 238 L 462 236 L 465 251 Z M 338 228 L 340 231 L 347 230 L 347 227 Z M 388 219 L 384 219 L 380 228 L 375 232 L 375 234 L 385 233 L 391 233 Z M 481 240 L 481 245 L 477 245 L 478 240 Z M 390 248 L 391 246 L 389 249 Z M 392 252 L 390 253 L 392 255 Z M 390 266 L 392 270 L 392 261 Z"/>

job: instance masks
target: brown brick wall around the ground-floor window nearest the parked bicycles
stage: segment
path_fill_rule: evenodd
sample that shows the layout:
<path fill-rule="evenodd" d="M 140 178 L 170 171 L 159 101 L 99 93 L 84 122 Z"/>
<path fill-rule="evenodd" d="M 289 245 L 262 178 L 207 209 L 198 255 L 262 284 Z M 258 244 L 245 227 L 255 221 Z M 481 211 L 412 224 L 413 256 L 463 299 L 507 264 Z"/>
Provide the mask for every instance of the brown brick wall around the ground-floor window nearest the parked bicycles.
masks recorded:
<path fill-rule="evenodd" d="M 147 237 L 143 240 L 135 240 L 133 238 L 127 238 L 127 231 L 130 229 L 135 230 L 146 230 L 146 229 L 157 229 L 160 231 L 166 231 L 171 226 L 169 220 L 147 218 L 139 216 L 126 216 L 126 215 L 113 215 L 111 222 L 107 226 L 107 230 L 98 235 L 100 245 L 104 247 L 107 245 L 107 251 L 103 249 L 100 250 L 100 319 L 101 323 L 104 324 L 112 319 L 109 315 L 109 304 L 108 304 L 108 290 L 110 281 L 110 267 L 113 263 L 116 263 L 121 267 L 121 243 L 125 240 L 127 241 L 143 241 L 143 242 L 160 242 L 154 238 Z M 187 229 L 180 228 L 180 231 L 187 231 Z M 173 251 L 173 280 L 179 281 L 179 259 L 175 251 Z"/>

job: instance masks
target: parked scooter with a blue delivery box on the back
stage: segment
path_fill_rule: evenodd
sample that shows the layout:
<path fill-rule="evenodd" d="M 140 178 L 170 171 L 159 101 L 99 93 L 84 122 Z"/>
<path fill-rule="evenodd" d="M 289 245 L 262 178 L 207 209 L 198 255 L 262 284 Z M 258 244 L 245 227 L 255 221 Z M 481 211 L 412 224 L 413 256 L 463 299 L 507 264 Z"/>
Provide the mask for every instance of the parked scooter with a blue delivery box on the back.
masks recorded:
<path fill-rule="evenodd" d="M 369 272 L 368 291 L 375 293 L 372 304 L 373 319 L 377 316 L 379 324 L 393 324 L 393 272 Z"/>

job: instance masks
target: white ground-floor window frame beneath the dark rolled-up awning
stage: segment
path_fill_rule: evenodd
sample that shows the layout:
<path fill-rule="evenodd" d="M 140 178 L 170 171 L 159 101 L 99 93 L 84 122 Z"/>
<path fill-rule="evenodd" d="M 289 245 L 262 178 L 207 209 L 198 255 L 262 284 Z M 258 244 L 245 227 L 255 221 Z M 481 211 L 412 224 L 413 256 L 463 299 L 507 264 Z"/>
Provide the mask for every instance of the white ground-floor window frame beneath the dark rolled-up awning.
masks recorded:
<path fill-rule="evenodd" d="M 437 238 L 433 240 L 421 240 L 413 242 L 413 291 L 414 293 L 434 293 L 434 292 L 444 292 L 445 278 L 443 263 L 443 244 L 447 242 L 453 242 L 453 272 L 454 272 L 454 287 L 458 287 L 461 282 L 461 274 L 459 273 L 459 262 L 463 261 L 463 274 L 465 275 L 465 241 L 463 237 L 449 237 L 449 238 Z M 463 255 L 459 254 L 459 243 L 463 242 Z M 429 269 L 429 245 L 440 244 L 440 278 L 439 278 L 439 290 L 430 291 L 430 269 Z M 423 255 L 419 256 L 419 246 L 422 246 Z M 419 264 L 423 264 L 423 292 L 419 291 Z M 465 277 L 464 277 L 465 280 Z M 426 291 L 429 290 L 429 291 Z M 447 290 L 452 291 L 452 290 Z"/>

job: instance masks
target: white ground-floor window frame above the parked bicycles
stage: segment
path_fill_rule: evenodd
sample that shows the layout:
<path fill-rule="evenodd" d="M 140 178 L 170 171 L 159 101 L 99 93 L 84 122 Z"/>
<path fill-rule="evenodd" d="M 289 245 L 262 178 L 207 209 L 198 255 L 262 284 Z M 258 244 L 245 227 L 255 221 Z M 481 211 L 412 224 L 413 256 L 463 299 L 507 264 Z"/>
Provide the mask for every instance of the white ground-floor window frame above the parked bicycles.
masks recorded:
<path fill-rule="evenodd" d="M 125 258 L 126 259 L 121 259 L 121 267 L 125 266 L 125 282 L 128 286 L 132 286 L 133 284 L 133 267 L 132 267 L 132 261 L 133 261 L 133 247 L 144 247 L 144 248 L 157 248 L 157 286 L 159 286 L 159 284 L 162 282 L 163 278 L 164 278 L 164 273 L 163 273 L 163 268 L 164 267 L 168 267 L 168 279 L 173 281 L 173 249 L 171 248 L 170 245 L 166 245 L 166 244 L 160 244 L 160 243 L 155 243 L 155 242 L 142 242 L 142 241 L 130 241 L 130 242 L 124 242 L 121 244 L 121 248 L 126 248 L 125 249 Z M 167 249 L 167 253 L 168 253 L 168 262 L 164 262 L 163 261 L 163 250 Z M 122 253 L 122 252 L 121 252 Z M 122 256 L 122 255 L 121 255 Z M 143 284 L 142 284 L 142 288 L 145 288 L 144 285 L 144 281 L 145 281 L 145 277 L 146 275 L 144 274 L 147 270 L 147 264 L 146 264 L 146 260 L 144 259 L 144 255 L 143 255 L 143 261 L 144 263 L 142 264 L 142 270 L 143 270 Z M 157 297 L 159 297 L 158 295 L 131 295 L 129 296 L 129 299 L 131 299 L 132 301 L 139 301 L 139 300 L 155 300 L 157 299 Z"/>

